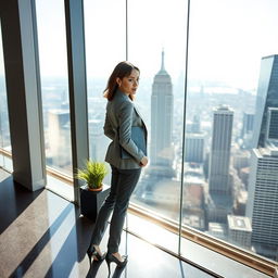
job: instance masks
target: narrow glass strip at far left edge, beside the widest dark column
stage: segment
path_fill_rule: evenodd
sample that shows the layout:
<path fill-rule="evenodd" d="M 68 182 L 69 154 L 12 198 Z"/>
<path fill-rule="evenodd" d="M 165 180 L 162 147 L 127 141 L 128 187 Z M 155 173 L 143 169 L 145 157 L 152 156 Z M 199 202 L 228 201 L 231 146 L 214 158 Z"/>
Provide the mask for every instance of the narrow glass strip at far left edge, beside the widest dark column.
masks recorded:
<path fill-rule="evenodd" d="M 1 22 L 0 22 L 1 23 Z M 4 155 L 4 153 L 11 154 L 11 139 L 10 139 L 10 126 L 9 114 L 7 103 L 7 87 L 4 77 L 4 58 L 3 58 L 3 45 L 2 33 L 0 26 L 0 166 L 12 172 L 11 157 Z"/>

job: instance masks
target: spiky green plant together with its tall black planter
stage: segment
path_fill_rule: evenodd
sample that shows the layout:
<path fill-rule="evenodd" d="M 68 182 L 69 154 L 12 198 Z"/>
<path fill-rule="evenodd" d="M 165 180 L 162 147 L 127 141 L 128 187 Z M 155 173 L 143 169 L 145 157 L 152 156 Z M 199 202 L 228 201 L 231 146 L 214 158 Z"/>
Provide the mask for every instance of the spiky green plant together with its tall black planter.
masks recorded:
<path fill-rule="evenodd" d="M 77 169 L 75 175 L 86 182 L 80 187 L 80 213 L 93 222 L 110 192 L 110 187 L 103 185 L 108 173 L 105 163 L 87 161 L 85 168 Z"/>

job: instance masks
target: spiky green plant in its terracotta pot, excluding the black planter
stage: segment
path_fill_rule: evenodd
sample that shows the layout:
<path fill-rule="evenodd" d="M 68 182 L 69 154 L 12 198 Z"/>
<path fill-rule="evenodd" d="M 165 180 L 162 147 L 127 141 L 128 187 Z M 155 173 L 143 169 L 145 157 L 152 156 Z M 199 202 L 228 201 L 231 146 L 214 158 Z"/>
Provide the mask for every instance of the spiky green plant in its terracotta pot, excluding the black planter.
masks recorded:
<path fill-rule="evenodd" d="M 91 191 L 101 191 L 103 188 L 103 179 L 108 175 L 108 168 L 103 162 L 87 161 L 86 167 L 78 169 L 76 177 L 85 180 L 87 187 Z"/>

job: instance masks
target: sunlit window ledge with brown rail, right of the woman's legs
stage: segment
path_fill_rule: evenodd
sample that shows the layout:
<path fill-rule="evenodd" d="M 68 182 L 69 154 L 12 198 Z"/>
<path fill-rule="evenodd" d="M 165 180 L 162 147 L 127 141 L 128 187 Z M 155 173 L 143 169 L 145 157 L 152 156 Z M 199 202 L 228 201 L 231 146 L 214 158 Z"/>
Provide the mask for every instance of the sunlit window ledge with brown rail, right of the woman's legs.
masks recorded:
<path fill-rule="evenodd" d="M 128 212 L 129 212 L 130 216 L 137 217 L 137 222 L 140 223 L 140 225 L 136 224 L 136 227 L 137 227 L 136 229 L 134 229 L 134 226 L 130 226 L 130 225 L 128 226 L 128 227 L 131 227 L 132 230 L 130 230 L 130 232 L 134 233 L 135 236 L 138 236 L 141 233 L 140 227 L 146 227 L 146 225 L 143 225 L 143 223 L 141 223 L 141 222 L 147 222 L 149 226 L 155 225 L 157 228 L 160 227 L 160 229 L 161 229 L 160 232 L 162 232 L 162 230 L 164 229 L 165 232 L 167 232 L 168 235 L 172 235 L 172 237 L 174 237 L 174 238 L 177 238 L 176 236 L 179 235 L 179 227 L 178 227 L 177 223 L 165 219 L 165 218 L 161 217 L 160 215 L 157 215 L 153 212 L 150 212 L 141 206 L 138 206 L 138 205 L 131 203 Z M 136 233 L 132 232 L 134 230 L 136 230 Z M 137 230 L 139 230 L 139 232 Z M 247 273 L 252 273 L 252 271 L 256 273 L 256 276 L 253 274 L 253 276 L 244 276 L 244 277 L 269 277 L 269 276 L 273 277 L 276 271 L 276 268 L 278 266 L 278 264 L 276 262 L 273 262 L 273 261 L 262 257 L 260 255 L 248 252 L 247 250 L 231 245 L 223 240 L 218 240 L 216 238 L 204 235 L 203 232 L 192 229 L 190 227 L 182 227 L 181 236 L 182 236 L 182 238 L 181 238 L 182 241 L 195 243 L 195 245 L 199 245 L 199 248 L 203 248 L 203 251 L 210 250 L 211 252 L 213 252 L 213 254 L 214 254 L 213 257 L 218 257 L 219 264 L 215 265 L 216 269 L 210 269 L 210 267 L 208 267 L 210 264 L 207 266 L 205 266 L 206 269 L 212 270 L 213 273 L 216 273 L 216 274 L 218 274 L 218 270 L 219 270 L 218 268 L 223 267 L 224 261 L 227 261 L 226 264 L 228 264 L 230 266 L 237 265 L 237 269 L 238 268 L 243 269 L 243 270 L 245 269 Z M 146 235 L 146 237 L 148 237 L 148 235 Z M 146 237 L 143 237 L 143 239 Z M 148 239 L 147 241 L 152 242 L 154 245 L 157 245 L 159 248 L 164 249 L 166 252 L 172 253 L 181 260 L 185 260 L 185 261 L 191 260 L 190 256 L 187 257 L 188 250 L 186 250 L 186 252 L 182 252 L 182 245 L 185 242 L 181 243 L 181 249 L 180 249 L 181 254 L 177 254 L 172 250 L 174 249 L 176 251 L 176 250 L 178 250 L 178 247 L 173 248 L 173 245 L 172 245 L 172 248 L 170 248 L 168 245 L 168 248 L 165 248 L 164 244 L 160 244 L 157 239 L 160 239 L 160 237 L 154 238 L 154 239 Z M 173 240 L 173 242 L 175 240 Z M 165 242 L 165 240 L 163 241 L 163 243 L 164 242 Z M 186 254 L 186 255 L 184 255 L 184 254 Z M 202 254 L 202 253 L 199 253 L 199 254 Z M 208 260 L 208 261 L 210 261 L 208 263 L 213 262 L 211 260 Z M 199 260 L 197 260 L 197 262 L 191 262 L 191 263 L 198 264 L 200 267 Z M 233 267 L 232 267 L 232 269 L 233 269 Z M 202 268 L 202 266 L 201 266 L 201 268 Z M 229 268 L 228 266 L 225 267 L 225 269 L 228 269 L 228 268 Z M 228 277 L 226 275 L 224 275 L 224 277 Z M 261 276 L 258 276 L 258 275 L 261 275 Z M 242 277 L 242 276 L 239 275 L 239 276 L 233 276 L 233 277 Z"/>

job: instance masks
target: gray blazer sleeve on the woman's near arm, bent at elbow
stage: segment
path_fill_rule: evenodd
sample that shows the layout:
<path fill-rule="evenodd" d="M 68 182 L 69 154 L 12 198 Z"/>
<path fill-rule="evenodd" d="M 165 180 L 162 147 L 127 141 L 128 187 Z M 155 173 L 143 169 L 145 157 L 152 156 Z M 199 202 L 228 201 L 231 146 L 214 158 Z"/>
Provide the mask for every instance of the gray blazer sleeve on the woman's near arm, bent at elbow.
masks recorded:
<path fill-rule="evenodd" d="M 129 101 L 123 102 L 118 111 L 118 142 L 140 163 L 144 154 L 131 139 L 132 113 L 134 104 Z"/>

